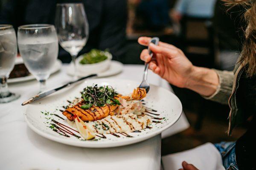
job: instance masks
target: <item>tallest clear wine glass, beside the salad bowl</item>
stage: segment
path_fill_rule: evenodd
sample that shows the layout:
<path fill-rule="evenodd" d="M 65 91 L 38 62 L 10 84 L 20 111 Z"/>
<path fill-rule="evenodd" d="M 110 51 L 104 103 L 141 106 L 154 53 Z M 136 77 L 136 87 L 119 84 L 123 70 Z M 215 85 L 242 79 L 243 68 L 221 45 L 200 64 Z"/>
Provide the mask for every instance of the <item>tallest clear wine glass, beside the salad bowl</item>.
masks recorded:
<path fill-rule="evenodd" d="M 58 3 L 55 26 L 61 47 L 70 53 L 74 64 L 74 77 L 77 79 L 76 57 L 85 46 L 89 24 L 82 3 Z"/>

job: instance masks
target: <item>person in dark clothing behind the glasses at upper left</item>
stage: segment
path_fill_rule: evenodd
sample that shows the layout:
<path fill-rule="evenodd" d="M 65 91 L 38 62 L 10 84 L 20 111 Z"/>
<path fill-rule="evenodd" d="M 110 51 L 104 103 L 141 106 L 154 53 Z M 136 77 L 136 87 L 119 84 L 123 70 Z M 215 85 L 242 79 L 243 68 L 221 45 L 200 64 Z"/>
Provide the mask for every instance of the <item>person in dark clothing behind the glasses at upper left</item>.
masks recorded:
<path fill-rule="evenodd" d="M 120 60 L 126 40 L 126 0 L 8 0 L 0 11 L 0 24 L 55 23 L 57 3 L 83 3 L 89 23 L 89 39 L 79 55 L 90 49 L 109 49 Z M 59 47 L 58 58 L 70 62 L 68 52 Z"/>

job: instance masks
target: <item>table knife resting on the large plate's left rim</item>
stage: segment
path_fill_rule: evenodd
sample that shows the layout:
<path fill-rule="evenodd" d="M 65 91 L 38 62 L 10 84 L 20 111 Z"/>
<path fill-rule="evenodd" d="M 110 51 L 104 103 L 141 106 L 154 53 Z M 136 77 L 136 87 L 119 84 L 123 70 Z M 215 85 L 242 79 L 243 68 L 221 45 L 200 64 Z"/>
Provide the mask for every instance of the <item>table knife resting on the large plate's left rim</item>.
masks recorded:
<path fill-rule="evenodd" d="M 37 101 L 37 100 L 39 100 L 39 99 L 41 99 L 41 98 L 46 97 L 47 95 L 50 95 L 50 94 L 52 94 L 52 93 L 54 93 L 54 92 L 57 92 L 57 91 L 60 90 L 60 89 L 63 89 L 63 88 L 65 88 L 65 87 L 67 87 L 67 86 L 70 86 L 71 84 L 74 84 L 74 83 L 79 82 L 79 81 L 82 81 L 82 80 L 84 80 L 84 79 L 86 79 L 86 78 L 92 78 L 92 77 L 97 77 L 97 75 L 96 75 L 96 74 L 88 75 L 88 76 L 79 78 L 79 79 L 76 80 L 76 81 L 70 81 L 70 82 L 67 83 L 67 84 L 64 84 L 64 85 L 62 85 L 62 86 L 59 86 L 59 87 L 57 87 L 57 88 L 55 88 L 55 89 L 51 89 L 51 90 L 49 90 L 49 91 L 47 91 L 47 92 L 39 93 L 38 95 L 35 95 L 34 97 L 29 98 L 28 100 L 24 101 L 21 105 L 24 106 L 24 105 L 26 105 L 26 104 L 30 104 L 30 103 L 32 103 L 32 102 L 34 102 L 34 101 Z"/>

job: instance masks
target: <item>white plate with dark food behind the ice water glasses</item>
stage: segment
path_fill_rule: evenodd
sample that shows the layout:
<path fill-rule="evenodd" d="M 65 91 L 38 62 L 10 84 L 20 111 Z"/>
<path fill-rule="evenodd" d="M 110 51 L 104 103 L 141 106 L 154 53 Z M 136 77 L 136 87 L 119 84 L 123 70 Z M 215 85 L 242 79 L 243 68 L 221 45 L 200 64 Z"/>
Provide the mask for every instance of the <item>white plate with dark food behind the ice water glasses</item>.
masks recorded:
<path fill-rule="evenodd" d="M 20 64 L 20 63 L 23 63 L 20 62 L 20 59 L 18 59 L 18 62 L 15 62 L 16 64 Z M 61 65 L 62 65 L 62 62 L 60 60 L 57 60 L 54 64 L 54 66 L 52 67 L 52 70 L 51 70 L 51 74 L 57 72 L 58 70 L 61 69 Z M 23 82 L 23 81 L 29 81 L 29 80 L 34 80 L 35 79 L 35 76 L 32 75 L 32 74 L 29 74 L 28 76 L 25 76 L 25 77 L 20 77 L 20 78 L 9 78 L 7 80 L 8 83 L 18 83 L 18 82 Z"/>

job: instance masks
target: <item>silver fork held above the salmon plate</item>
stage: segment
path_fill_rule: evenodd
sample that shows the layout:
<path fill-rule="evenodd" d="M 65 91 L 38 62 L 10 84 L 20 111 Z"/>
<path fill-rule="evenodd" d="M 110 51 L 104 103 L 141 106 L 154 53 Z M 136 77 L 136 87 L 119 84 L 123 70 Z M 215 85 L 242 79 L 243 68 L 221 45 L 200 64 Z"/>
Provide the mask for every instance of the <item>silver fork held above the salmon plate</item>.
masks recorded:
<path fill-rule="evenodd" d="M 149 45 L 150 43 L 153 43 L 153 44 L 155 44 L 155 45 L 158 45 L 158 43 L 159 43 L 159 38 L 158 38 L 158 37 L 153 37 L 153 38 L 151 38 L 151 40 L 149 41 L 148 45 Z M 153 52 L 151 52 L 151 50 L 149 49 L 149 46 L 148 46 L 148 53 L 149 53 L 149 55 L 150 55 L 151 58 L 152 58 Z M 141 84 L 140 84 L 140 86 L 139 86 L 140 88 L 146 89 L 146 92 L 147 92 L 147 93 L 148 93 L 149 88 L 150 88 L 150 86 L 149 86 L 149 84 L 148 84 L 148 81 L 147 81 L 147 78 L 148 78 L 148 65 L 149 65 L 149 63 L 145 63 L 145 69 L 144 69 L 144 72 L 143 72 L 142 82 L 141 82 Z"/>

